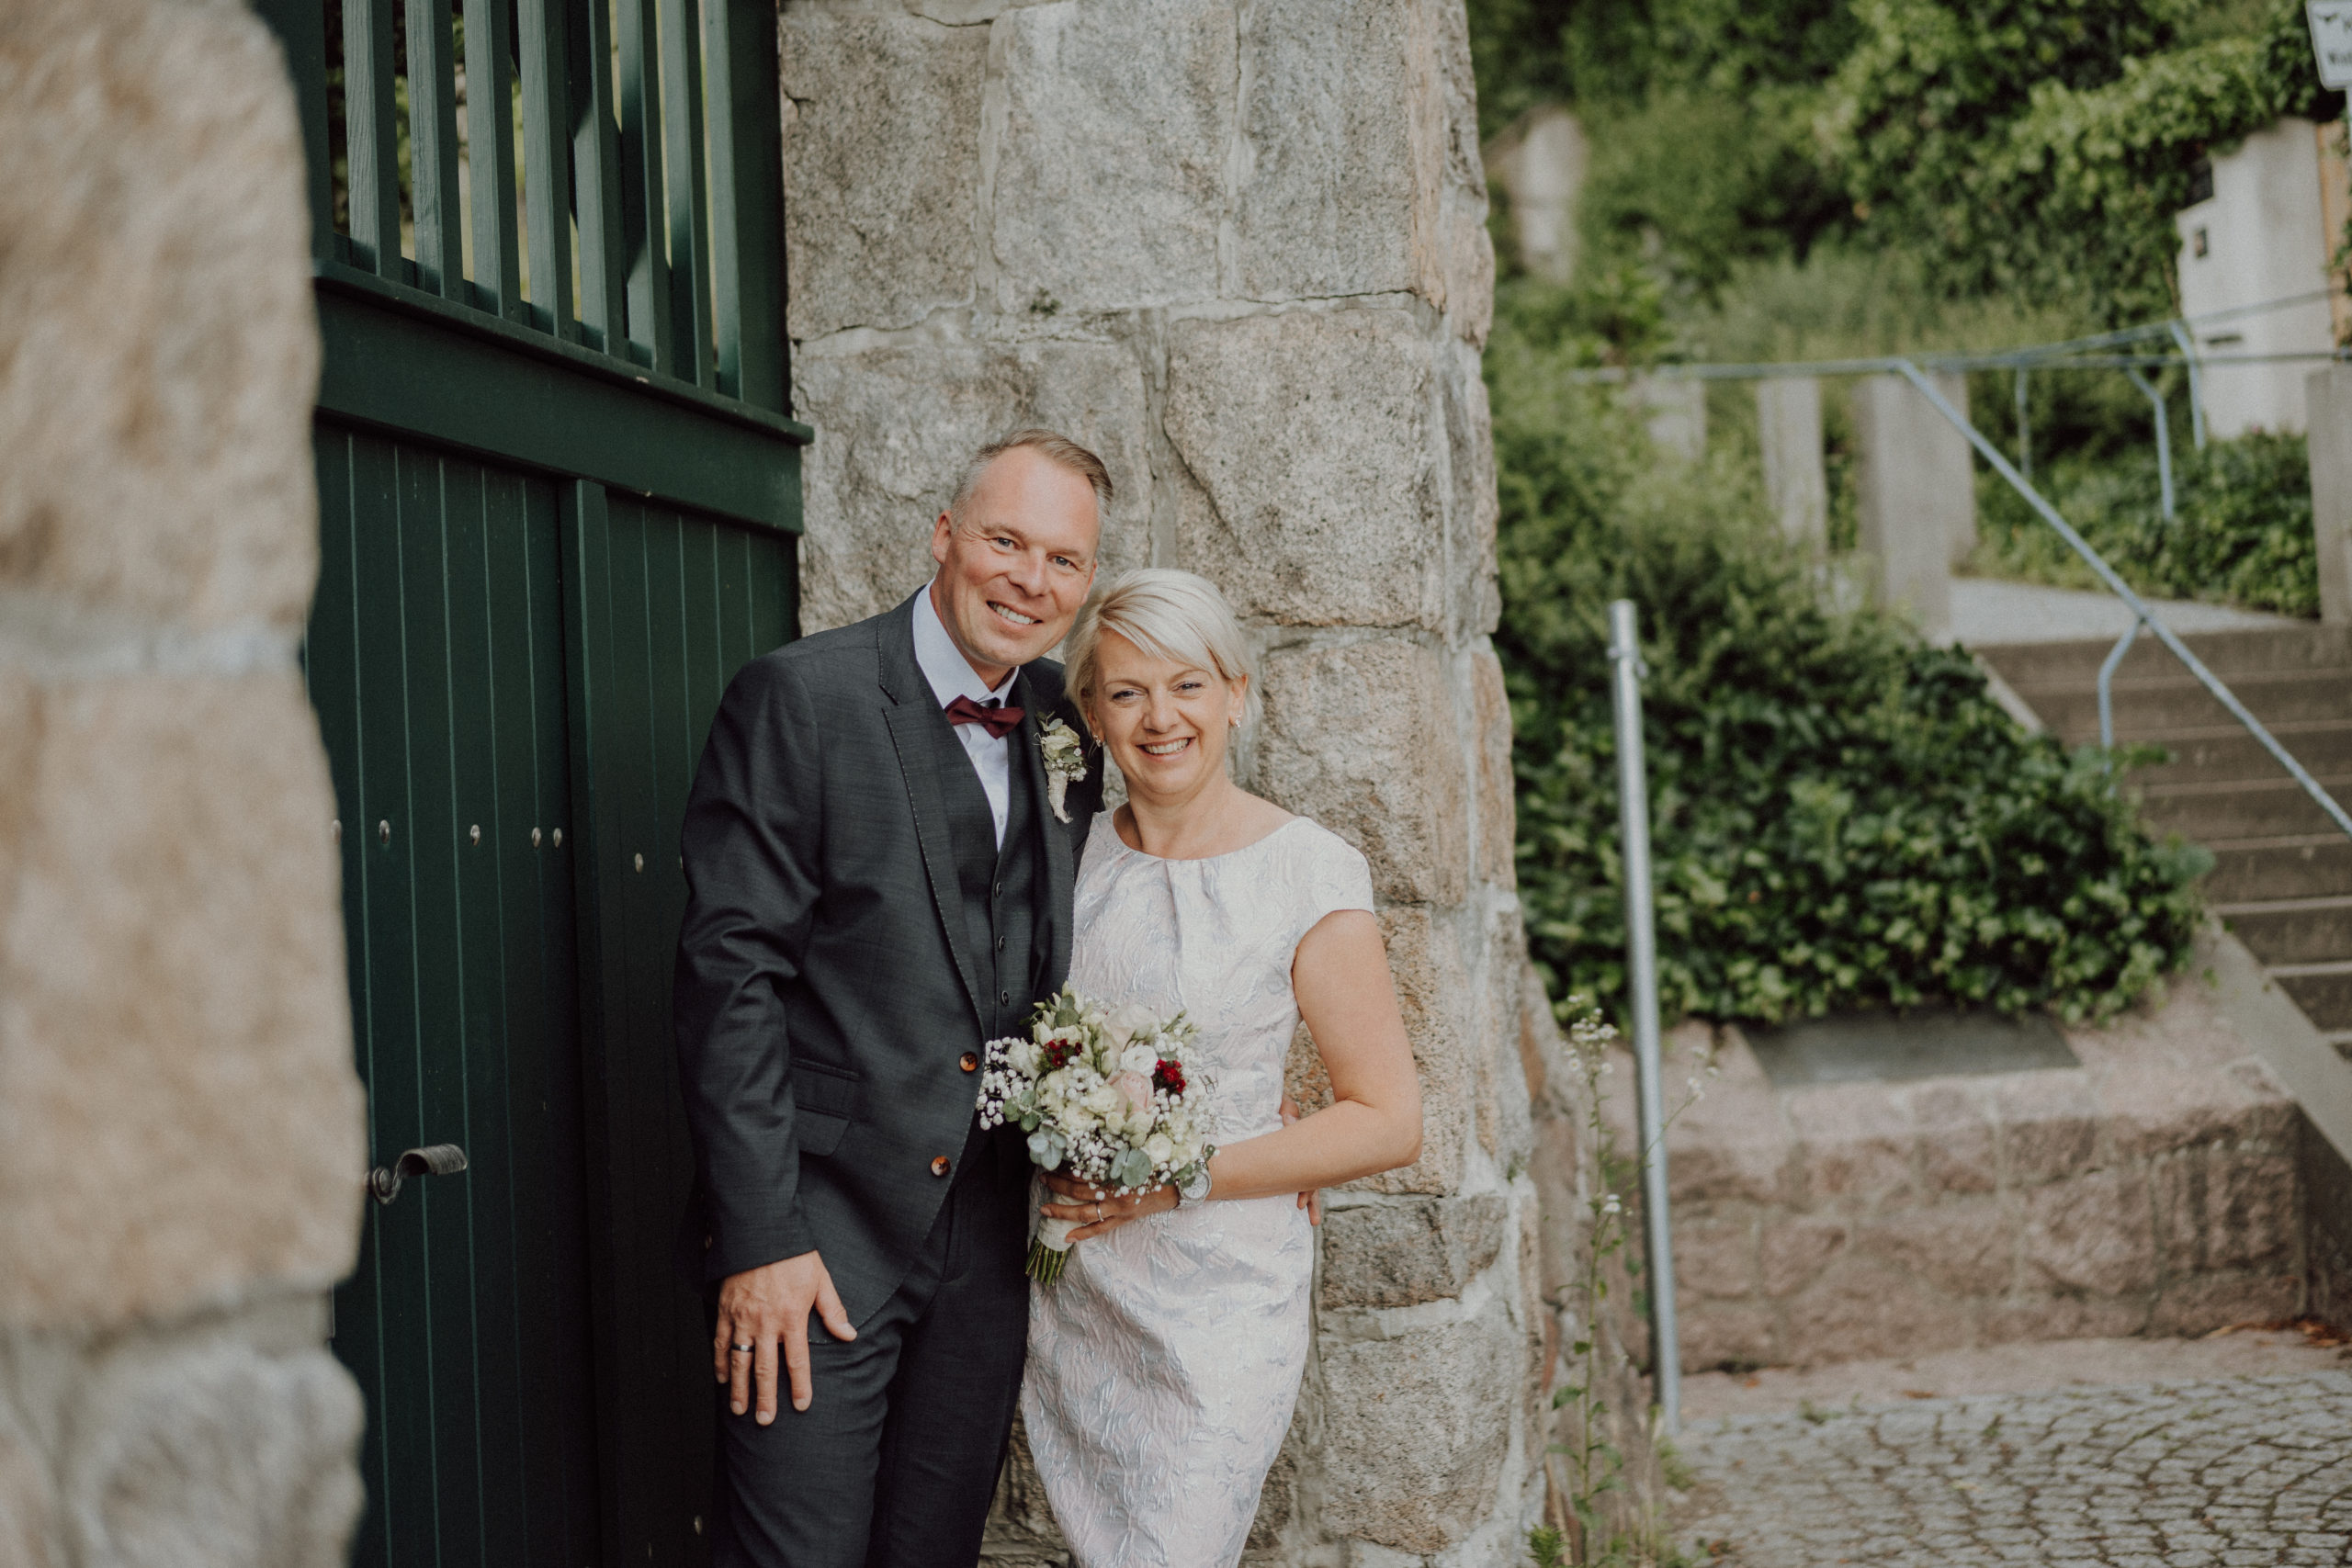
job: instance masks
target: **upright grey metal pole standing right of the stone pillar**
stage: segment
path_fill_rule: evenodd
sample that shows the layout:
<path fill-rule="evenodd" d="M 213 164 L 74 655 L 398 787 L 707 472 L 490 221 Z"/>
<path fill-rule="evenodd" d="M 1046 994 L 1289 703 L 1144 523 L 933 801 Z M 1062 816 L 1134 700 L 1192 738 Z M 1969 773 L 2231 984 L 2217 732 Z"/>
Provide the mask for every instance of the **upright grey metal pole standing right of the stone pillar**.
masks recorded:
<path fill-rule="evenodd" d="M 1665 1222 L 1665 1084 L 1658 1060 L 1658 931 L 1649 891 L 1649 769 L 1642 764 L 1642 644 L 1632 599 L 1609 604 L 1616 672 L 1618 832 L 1625 856 L 1625 959 L 1632 969 L 1632 1067 L 1642 1112 L 1642 1220 L 1649 1241 L 1649 1354 L 1658 1418 L 1682 1425 L 1682 1340 L 1675 1331 L 1675 1244 Z"/>

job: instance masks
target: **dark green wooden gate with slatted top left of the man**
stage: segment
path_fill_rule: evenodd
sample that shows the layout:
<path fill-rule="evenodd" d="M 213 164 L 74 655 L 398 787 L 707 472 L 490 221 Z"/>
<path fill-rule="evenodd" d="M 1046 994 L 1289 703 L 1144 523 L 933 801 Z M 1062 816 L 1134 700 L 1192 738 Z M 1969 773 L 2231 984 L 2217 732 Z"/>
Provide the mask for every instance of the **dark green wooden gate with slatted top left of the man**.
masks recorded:
<path fill-rule="evenodd" d="M 355 1561 L 699 1563 L 677 823 L 795 625 L 771 0 L 261 0 L 325 339 L 303 644 L 372 1164 Z"/>

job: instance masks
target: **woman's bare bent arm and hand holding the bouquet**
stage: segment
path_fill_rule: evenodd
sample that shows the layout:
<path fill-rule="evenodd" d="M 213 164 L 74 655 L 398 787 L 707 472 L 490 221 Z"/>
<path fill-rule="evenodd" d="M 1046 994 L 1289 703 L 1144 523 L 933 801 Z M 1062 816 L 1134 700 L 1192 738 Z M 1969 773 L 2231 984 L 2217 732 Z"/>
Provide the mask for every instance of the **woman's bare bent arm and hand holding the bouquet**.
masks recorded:
<path fill-rule="evenodd" d="M 1421 1079 L 1378 922 L 1364 910 L 1334 910 L 1315 922 L 1291 957 L 1291 990 L 1331 1077 L 1331 1105 L 1218 1150 L 1209 1161 L 1209 1201 L 1338 1187 L 1421 1159 Z M 1091 1220 L 1073 1241 L 1176 1206 L 1167 1187 L 1096 1201 L 1087 1182 L 1058 1171 L 1047 1185 L 1065 1201 L 1047 1204 L 1044 1213 Z"/>

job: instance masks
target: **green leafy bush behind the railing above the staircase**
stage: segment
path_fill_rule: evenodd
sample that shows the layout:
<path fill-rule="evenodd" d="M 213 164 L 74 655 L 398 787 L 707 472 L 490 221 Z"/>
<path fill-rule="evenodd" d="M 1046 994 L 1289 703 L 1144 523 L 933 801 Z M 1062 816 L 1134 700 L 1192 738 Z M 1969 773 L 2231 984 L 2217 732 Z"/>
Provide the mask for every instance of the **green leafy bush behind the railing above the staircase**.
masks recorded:
<path fill-rule="evenodd" d="M 2246 435 L 2178 454 L 2173 522 L 2161 517 L 2154 454 L 2058 463 L 2034 484 L 2143 592 L 2319 614 L 2300 435 Z M 1980 571 L 2063 588 L 2100 585 L 1999 475 L 1978 477 L 1978 520 Z"/>

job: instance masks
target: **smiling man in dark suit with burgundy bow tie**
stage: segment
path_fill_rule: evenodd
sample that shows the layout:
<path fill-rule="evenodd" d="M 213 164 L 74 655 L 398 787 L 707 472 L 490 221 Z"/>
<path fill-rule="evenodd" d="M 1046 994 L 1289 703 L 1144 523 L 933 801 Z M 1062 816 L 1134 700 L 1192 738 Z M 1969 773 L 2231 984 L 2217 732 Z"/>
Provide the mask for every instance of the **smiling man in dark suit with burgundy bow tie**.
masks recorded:
<path fill-rule="evenodd" d="M 1042 724 L 1084 729 L 1042 654 L 1094 583 L 1108 501 L 1101 458 L 1049 430 L 983 447 L 931 583 L 755 658 L 710 726 L 675 1023 L 684 1248 L 724 1385 L 720 1568 L 978 1559 L 1028 1338 L 1030 1171 L 974 1100 L 981 1044 L 1070 966 L 1101 757 L 1061 820 Z"/>

